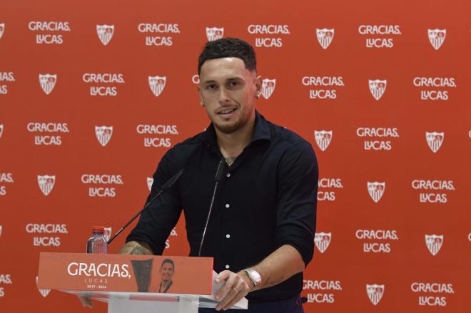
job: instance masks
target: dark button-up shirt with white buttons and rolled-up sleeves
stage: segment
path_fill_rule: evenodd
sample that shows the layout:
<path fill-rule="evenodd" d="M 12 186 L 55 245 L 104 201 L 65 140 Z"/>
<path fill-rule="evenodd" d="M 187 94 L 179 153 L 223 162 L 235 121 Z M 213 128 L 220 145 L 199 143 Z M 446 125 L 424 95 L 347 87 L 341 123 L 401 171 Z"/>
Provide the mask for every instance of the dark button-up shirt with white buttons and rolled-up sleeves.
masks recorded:
<path fill-rule="evenodd" d="M 147 242 L 161 254 L 183 209 L 190 256 L 198 255 L 221 158 L 212 124 L 168 150 L 153 175 L 148 199 L 178 170 L 185 172 L 143 212 L 126 242 Z M 310 143 L 256 112 L 252 140 L 219 183 L 202 256 L 214 257 L 216 272 L 238 272 L 257 265 L 278 247 L 291 245 L 308 265 L 314 251 L 317 190 L 318 165 Z M 248 300 L 289 299 L 302 287 L 299 273 L 250 292 Z"/>

